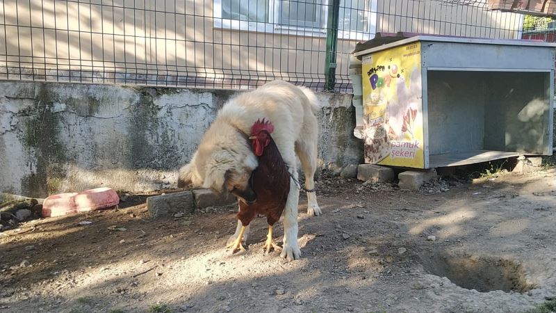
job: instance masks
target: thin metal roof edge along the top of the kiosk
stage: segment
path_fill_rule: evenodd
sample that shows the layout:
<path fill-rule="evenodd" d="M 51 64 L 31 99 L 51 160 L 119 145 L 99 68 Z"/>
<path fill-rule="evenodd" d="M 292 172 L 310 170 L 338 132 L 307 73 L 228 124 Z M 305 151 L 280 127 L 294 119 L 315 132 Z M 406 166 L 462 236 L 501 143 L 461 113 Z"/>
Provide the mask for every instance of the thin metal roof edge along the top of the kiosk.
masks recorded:
<path fill-rule="evenodd" d="M 376 51 L 382 51 L 390 49 L 393 47 L 398 47 L 401 45 L 406 45 L 411 42 L 416 41 L 428 41 L 428 42 L 454 42 L 454 43 L 470 43 L 470 44 L 482 44 L 482 45 L 507 45 L 507 46 L 528 46 L 528 47 L 556 47 L 556 42 L 541 42 L 538 40 L 521 40 L 521 39 L 482 39 L 482 38 L 464 38 L 464 37 L 441 37 L 441 36 L 429 36 L 429 35 L 418 35 L 415 37 L 398 40 L 396 42 L 391 42 L 386 45 L 379 47 L 374 47 L 370 49 L 365 49 L 363 51 L 355 52 L 354 56 L 364 56 L 366 54 L 371 54 Z"/>

